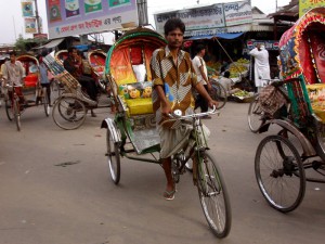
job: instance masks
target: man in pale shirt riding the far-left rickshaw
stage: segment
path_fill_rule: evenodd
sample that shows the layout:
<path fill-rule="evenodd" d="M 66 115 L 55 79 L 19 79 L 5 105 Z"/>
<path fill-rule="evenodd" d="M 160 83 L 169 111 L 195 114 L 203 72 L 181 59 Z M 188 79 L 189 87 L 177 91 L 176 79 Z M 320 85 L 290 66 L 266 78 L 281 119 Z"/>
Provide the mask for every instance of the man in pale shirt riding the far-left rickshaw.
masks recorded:
<path fill-rule="evenodd" d="M 6 84 L 10 86 L 24 86 L 25 69 L 23 64 L 16 60 L 16 52 L 10 52 L 9 56 L 10 60 L 1 66 L 2 77 L 4 80 L 3 86 Z M 25 104 L 22 87 L 16 87 L 15 92 L 20 98 L 20 103 Z M 12 91 L 9 91 L 8 94 L 11 98 Z"/>

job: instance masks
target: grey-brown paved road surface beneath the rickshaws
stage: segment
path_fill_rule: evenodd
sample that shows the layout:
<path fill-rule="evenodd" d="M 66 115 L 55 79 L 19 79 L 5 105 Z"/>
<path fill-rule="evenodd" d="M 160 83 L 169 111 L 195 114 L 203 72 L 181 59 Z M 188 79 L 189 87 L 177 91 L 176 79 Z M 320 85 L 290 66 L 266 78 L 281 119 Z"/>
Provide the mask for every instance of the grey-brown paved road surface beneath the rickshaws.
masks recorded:
<path fill-rule="evenodd" d="M 308 183 L 303 203 L 288 215 L 263 200 L 253 157 L 265 134 L 248 130 L 247 108 L 227 103 L 219 117 L 206 120 L 233 210 L 231 233 L 220 241 L 209 231 L 190 174 L 170 202 L 161 197 L 158 165 L 122 159 L 120 184 L 112 183 L 100 129 L 106 111 L 65 131 L 34 107 L 17 132 L 1 107 L 0 244 L 324 243 L 325 185 Z"/>

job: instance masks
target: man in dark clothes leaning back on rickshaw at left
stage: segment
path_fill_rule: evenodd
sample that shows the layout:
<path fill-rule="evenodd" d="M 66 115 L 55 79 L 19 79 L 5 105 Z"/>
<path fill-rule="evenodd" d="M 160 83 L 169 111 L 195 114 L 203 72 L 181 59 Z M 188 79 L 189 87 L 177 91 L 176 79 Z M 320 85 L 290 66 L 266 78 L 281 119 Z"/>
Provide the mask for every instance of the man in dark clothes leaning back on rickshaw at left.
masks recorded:
<path fill-rule="evenodd" d="M 68 57 L 64 60 L 63 66 L 65 69 L 72 74 L 80 85 L 87 90 L 89 98 L 93 101 L 98 99 L 98 88 L 95 81 L 82 74 L 82 60 L 78 55 L 78 50 L 74 47 L 68 48 Z M 91 110 L 91 115 L 95 117 L 95 114 Z"/>

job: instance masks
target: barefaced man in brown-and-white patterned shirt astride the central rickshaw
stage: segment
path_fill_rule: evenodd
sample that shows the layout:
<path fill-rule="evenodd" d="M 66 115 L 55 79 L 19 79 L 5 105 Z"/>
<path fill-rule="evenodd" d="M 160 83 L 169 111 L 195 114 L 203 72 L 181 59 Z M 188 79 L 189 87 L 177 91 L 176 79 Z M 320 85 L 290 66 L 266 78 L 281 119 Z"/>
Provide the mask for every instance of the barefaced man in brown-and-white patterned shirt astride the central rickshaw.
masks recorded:
<path fill-rule="evenodd" d="M 157 129 L 160 136 L 160 158 L 167 179 L 164 197 L 173 200 L 176 185 L 171 176 L 171 155 L 186 145 L 192 128 L 180 123 L 167 121 L 169 114 L 181 110 L 184 114 L 193 114 L 194 101 L 192 88 L 208 101 L 212 107 L 218 105 L 202 82 L 197 81 L 188 53 L 181 50 L 185 25 L 180 18 L 170 18 L 164 26 L 167 47 L 155 50 L 151 61 L 153 76 L 153 107 L 156 115 Z"/>

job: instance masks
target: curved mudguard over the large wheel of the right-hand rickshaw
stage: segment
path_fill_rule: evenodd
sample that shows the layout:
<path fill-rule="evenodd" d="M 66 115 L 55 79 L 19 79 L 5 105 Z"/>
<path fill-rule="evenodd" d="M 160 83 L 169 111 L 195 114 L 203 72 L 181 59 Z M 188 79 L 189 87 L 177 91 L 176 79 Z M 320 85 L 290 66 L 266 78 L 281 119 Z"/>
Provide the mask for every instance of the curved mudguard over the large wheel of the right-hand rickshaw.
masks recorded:
<path fill-rule="evenodd" d="M 295 137 L 298 138 L 301 147 L 303 150 L 303 156 L 310 157 L 310 156 L 315 156 L 316 152 L 311 144 L 311 142 L 304 137 L 303 133 L 295 126 L 292 123 L 283 120 L 283 119 L 272 119 L 266 121 L 261 128 L 259 129 L 259 132 L 264 132 L 268 131 L 270 125 L 275 124 L 278 125 L 280 127 L 284 128 L 285 130 L 288 130 L 290 133 L 292 133 Z"/>

